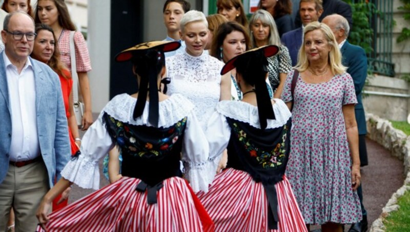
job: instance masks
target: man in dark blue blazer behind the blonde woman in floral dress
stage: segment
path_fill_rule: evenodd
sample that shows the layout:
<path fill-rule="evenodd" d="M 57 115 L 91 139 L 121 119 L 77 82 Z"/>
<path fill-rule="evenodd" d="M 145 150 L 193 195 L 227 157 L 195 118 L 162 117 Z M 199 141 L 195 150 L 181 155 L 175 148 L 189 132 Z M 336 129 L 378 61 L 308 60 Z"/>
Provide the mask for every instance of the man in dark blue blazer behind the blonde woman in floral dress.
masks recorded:
<path fill-rule="evenodd" d="M 320 0 L 301 0 L 299 3 L 299 14 L 303 27 L 319 20 L 323 12 Z M 282 43 L 288 48 L 291 55 L 292 66 L 298 63 L 298 52 L 303 42 L 303 27 L 284 33 L 281 37 Z"/>

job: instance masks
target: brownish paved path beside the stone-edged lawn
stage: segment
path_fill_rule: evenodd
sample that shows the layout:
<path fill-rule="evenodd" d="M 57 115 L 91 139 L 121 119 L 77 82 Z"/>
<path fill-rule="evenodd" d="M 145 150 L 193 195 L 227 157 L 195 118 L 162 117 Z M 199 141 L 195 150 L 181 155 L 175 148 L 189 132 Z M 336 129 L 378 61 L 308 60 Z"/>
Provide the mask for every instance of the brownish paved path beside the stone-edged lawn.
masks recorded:
<path fill-rule="evenodd" d="M 392 157 L 382 146 L 366 140 L 369 165 L 361 169 L 364 205 L 367 209 L 369 228 L 371 223 L 381 214 L 381 209 L 392 194 L 403 185 L 404 168 L 402 161 Z M 100 167 L 101 167 L 100 162 Z M 100 175 L 100 186 L 105 186 L 108 181 Z M 92 190 L 82 189 L 74 185 L 70 202 L 90 194 Z M 348 226 L 346 226 L 348 228 Z M 315 227 L 316 228 L 316 227 Z M 346 231 L 347 231 L 346 228 Z M 312 227 L 313 229 L 313 227 Z"/>

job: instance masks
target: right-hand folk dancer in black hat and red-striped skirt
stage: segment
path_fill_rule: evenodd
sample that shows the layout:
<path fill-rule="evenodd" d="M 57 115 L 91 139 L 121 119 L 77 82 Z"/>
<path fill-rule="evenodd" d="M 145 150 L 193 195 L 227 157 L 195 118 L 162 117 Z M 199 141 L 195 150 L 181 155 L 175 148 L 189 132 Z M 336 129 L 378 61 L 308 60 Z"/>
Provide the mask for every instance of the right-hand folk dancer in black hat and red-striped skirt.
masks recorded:
<path fill-rule="evenodd" d="M 198 198 L 215 231 L 307 231 L 284 172 L 290 144 L 291 112 L 271 100 L 265 80 L 267 57 L 278 47 L 244 52 L 223 67 L 236 68 L 241 101 L 221 101 L 208 124 L 210 159 L 228 148 L 228 168 Z"/>

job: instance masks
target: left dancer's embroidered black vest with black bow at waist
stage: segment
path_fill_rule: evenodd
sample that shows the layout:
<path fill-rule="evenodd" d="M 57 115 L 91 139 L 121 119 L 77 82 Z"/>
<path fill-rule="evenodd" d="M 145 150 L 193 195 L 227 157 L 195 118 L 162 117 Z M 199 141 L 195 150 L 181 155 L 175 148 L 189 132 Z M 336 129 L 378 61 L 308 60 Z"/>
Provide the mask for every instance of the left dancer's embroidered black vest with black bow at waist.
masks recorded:
<path fill-rule="evenodd" d="M 187 117 L 167 128 L 131 125 L 108 113 L 104 113 L 103 122 L 121 149 L 121 175 L 140 179 L 136 190 L 147 189 L 148 203 L 156 203 L 156 191 L 162 187 L 162 181 L 182 177 L 179 161 Z"/>

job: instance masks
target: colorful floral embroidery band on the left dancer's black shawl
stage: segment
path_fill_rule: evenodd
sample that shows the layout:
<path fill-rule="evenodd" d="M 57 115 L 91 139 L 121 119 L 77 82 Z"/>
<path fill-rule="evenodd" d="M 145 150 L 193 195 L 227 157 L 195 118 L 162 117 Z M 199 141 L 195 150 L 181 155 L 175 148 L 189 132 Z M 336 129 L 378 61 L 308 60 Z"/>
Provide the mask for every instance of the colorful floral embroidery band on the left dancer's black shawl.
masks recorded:
<path fill-rule="evenodd" d="M 122 152 L 126 152 L 131 156 L 152 157 L 168 153 L 172 149 L 173 145 L 181 138 L 187 123 L 187 117 L 169 128 L 158 128 L 162 133 L 160 137 L 162 139 L 160 140 L 146 140 L 138 137 L 137 129 L 141 126 L 122 123 L 107 113 L 104 115 L 104 121 L 107 124 L 107 130 L 111 138 L 121 147 Z"/>

